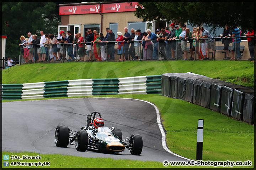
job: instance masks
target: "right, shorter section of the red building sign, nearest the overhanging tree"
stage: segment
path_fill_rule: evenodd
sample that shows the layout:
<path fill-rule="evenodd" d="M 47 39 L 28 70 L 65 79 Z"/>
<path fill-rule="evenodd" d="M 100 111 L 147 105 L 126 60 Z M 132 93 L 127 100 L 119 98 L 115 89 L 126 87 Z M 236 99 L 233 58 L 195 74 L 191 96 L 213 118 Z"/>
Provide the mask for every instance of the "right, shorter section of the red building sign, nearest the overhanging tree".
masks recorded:
<path fill-rule="evenodd" d="M 113 4 L 102 4 L 101 12 L 128 12 L 135 11 L 138 6 L 138 2 L 132 2 L 130 6 L 129 2 L 113 3 Z"/>

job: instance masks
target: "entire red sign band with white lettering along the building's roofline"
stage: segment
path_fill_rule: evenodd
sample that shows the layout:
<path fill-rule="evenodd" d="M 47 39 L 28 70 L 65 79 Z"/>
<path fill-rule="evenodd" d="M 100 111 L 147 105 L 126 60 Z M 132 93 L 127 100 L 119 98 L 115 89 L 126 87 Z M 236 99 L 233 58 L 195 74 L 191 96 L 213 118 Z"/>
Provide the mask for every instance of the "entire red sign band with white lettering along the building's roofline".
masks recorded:
<path fill-rule="evenodd" d="M 100 10 L 101 13 L 129 12 L 135 11 L 137 6 L 138 2 L 132 2 L 132 6 L 130 6 L 129 2 L 95 5 L 60 6 L 59 15 L 100 13 Z"/>

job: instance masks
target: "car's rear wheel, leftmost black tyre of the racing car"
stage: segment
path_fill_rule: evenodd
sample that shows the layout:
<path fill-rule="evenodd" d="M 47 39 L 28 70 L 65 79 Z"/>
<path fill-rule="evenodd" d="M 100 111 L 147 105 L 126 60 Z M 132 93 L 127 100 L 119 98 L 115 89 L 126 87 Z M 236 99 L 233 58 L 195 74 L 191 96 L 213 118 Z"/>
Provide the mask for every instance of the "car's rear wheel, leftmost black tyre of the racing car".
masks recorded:
<path fill-rule="evenodd" d="M 65 125 L 58 125 L 55 130 L 55 144 L 58 147 L 67 147 L 69 143 L 69 128 Z"/>

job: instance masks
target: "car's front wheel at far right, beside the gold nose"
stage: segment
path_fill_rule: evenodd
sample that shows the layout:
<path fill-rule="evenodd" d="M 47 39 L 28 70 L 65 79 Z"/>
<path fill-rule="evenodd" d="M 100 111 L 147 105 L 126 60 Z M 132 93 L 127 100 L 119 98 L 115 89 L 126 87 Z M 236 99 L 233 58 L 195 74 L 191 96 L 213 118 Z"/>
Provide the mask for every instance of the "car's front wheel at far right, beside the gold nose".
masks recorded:
<path fill-rule="evenodd" d="M 132 146 L 130 153 L 132 155 L 139 155 L 143 147 L 142 136 L 140 134 L 132 134 L 130 137 L 130 145 Z"/>

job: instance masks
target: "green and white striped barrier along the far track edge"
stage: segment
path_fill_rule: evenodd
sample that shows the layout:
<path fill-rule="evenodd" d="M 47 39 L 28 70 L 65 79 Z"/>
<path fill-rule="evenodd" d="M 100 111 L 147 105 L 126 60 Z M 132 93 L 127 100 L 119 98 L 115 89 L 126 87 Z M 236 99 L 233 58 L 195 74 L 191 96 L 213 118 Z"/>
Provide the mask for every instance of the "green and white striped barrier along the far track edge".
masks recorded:
<path fill-rule="evenodd" d="M 36 99 L 117 94 L 161 94 L 161 75 L 2 84 L 2 99 Z"/>

